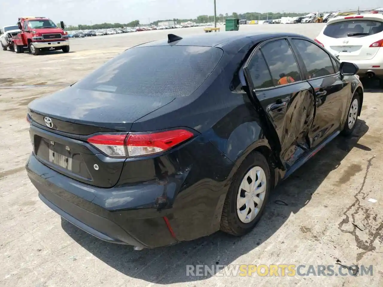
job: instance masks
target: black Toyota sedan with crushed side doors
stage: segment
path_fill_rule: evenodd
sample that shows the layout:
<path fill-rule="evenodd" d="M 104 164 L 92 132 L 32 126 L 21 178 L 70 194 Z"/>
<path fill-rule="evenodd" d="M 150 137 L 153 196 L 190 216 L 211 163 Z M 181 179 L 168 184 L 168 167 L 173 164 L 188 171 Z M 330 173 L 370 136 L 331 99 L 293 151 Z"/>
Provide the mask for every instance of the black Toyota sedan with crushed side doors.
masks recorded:
<path fill-rule="evenodd" d="M 352 133 L 357 72 L 297 34 L 169 34 L 29 103 L 26 170 L 48 207 L 105 241 L 244 235 L 272 188 Z"/>

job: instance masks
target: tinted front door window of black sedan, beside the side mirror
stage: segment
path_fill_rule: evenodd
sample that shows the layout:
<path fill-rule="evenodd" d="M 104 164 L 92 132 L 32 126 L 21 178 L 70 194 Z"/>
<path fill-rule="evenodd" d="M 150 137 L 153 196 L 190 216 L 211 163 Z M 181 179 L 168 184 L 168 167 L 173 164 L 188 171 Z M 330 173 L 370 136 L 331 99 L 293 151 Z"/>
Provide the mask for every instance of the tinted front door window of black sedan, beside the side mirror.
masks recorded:
<path fill-rule="evenodd" d="M 298 49 L 304 65 L 306 65 L 309 78 L 318 78 L 336 73 L 329 54 L 317 45 L 301 39 L 293 39 L 292 42 Z"/>

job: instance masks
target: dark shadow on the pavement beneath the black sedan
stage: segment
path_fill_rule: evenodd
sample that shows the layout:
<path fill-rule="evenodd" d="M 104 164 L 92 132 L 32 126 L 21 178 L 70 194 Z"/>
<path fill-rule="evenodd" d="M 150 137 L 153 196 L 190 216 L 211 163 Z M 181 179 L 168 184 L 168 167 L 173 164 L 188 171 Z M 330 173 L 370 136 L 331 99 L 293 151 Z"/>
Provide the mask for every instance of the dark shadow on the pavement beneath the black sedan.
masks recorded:
<path fill-rule="evenodd" d="M 371 150 L 358 143 L 367 131 L 366 123 L 358 120 L 354 133 L 350 137 L 336 137 L 304 164 L 304 168 L 300 168 L 281 183 L 270 195 L 265 214 L 257 227 L 241 238 L 217 232 L 211 236 L 178 245 L 133 251 L 131 246 L 115 245 L 98 240 L 64 219 L 61 225 L 64 231 L 83 248 L 131 278 L 163 285 L 204 280 L 212 275 L 187 276 L 186 266 L 228 265 L 256 249 L 277 232 L 291 214 L 296 214 L 308 204 L 318 186 L 332 170 L 340 165 L 352 148 Z M 130 279 L 126 280 L 128 284 Z"/>

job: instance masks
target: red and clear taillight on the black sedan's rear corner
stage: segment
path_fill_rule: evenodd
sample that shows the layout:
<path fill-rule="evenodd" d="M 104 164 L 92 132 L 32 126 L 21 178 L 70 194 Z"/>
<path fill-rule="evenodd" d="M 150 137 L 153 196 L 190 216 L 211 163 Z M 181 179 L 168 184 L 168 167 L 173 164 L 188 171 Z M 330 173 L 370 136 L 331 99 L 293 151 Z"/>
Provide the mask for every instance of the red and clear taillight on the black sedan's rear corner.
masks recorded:
<path fill-rule="evenodd" d="M 162 132 L 131 132 L 129 134 L 99 134 L 87 141 L 108 157 L 142 157 L 164 152 L 191 139 L 188 130 L 175 129 Z"/>

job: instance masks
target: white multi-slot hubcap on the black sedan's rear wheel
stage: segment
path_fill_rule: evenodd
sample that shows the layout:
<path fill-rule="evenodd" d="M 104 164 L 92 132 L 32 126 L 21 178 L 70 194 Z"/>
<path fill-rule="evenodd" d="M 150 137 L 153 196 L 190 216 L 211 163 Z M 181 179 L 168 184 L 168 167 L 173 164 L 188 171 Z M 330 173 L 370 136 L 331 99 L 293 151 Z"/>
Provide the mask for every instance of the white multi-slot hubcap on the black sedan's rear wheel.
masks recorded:
<path fill-rule="evenodd" d="M 259 166 L 254 166 L 242 179 L 237 195 L 237 214 L 243 223 L 252 222 L 257 216 L 264 204 L 265 194 L 265 171 Z"/>

